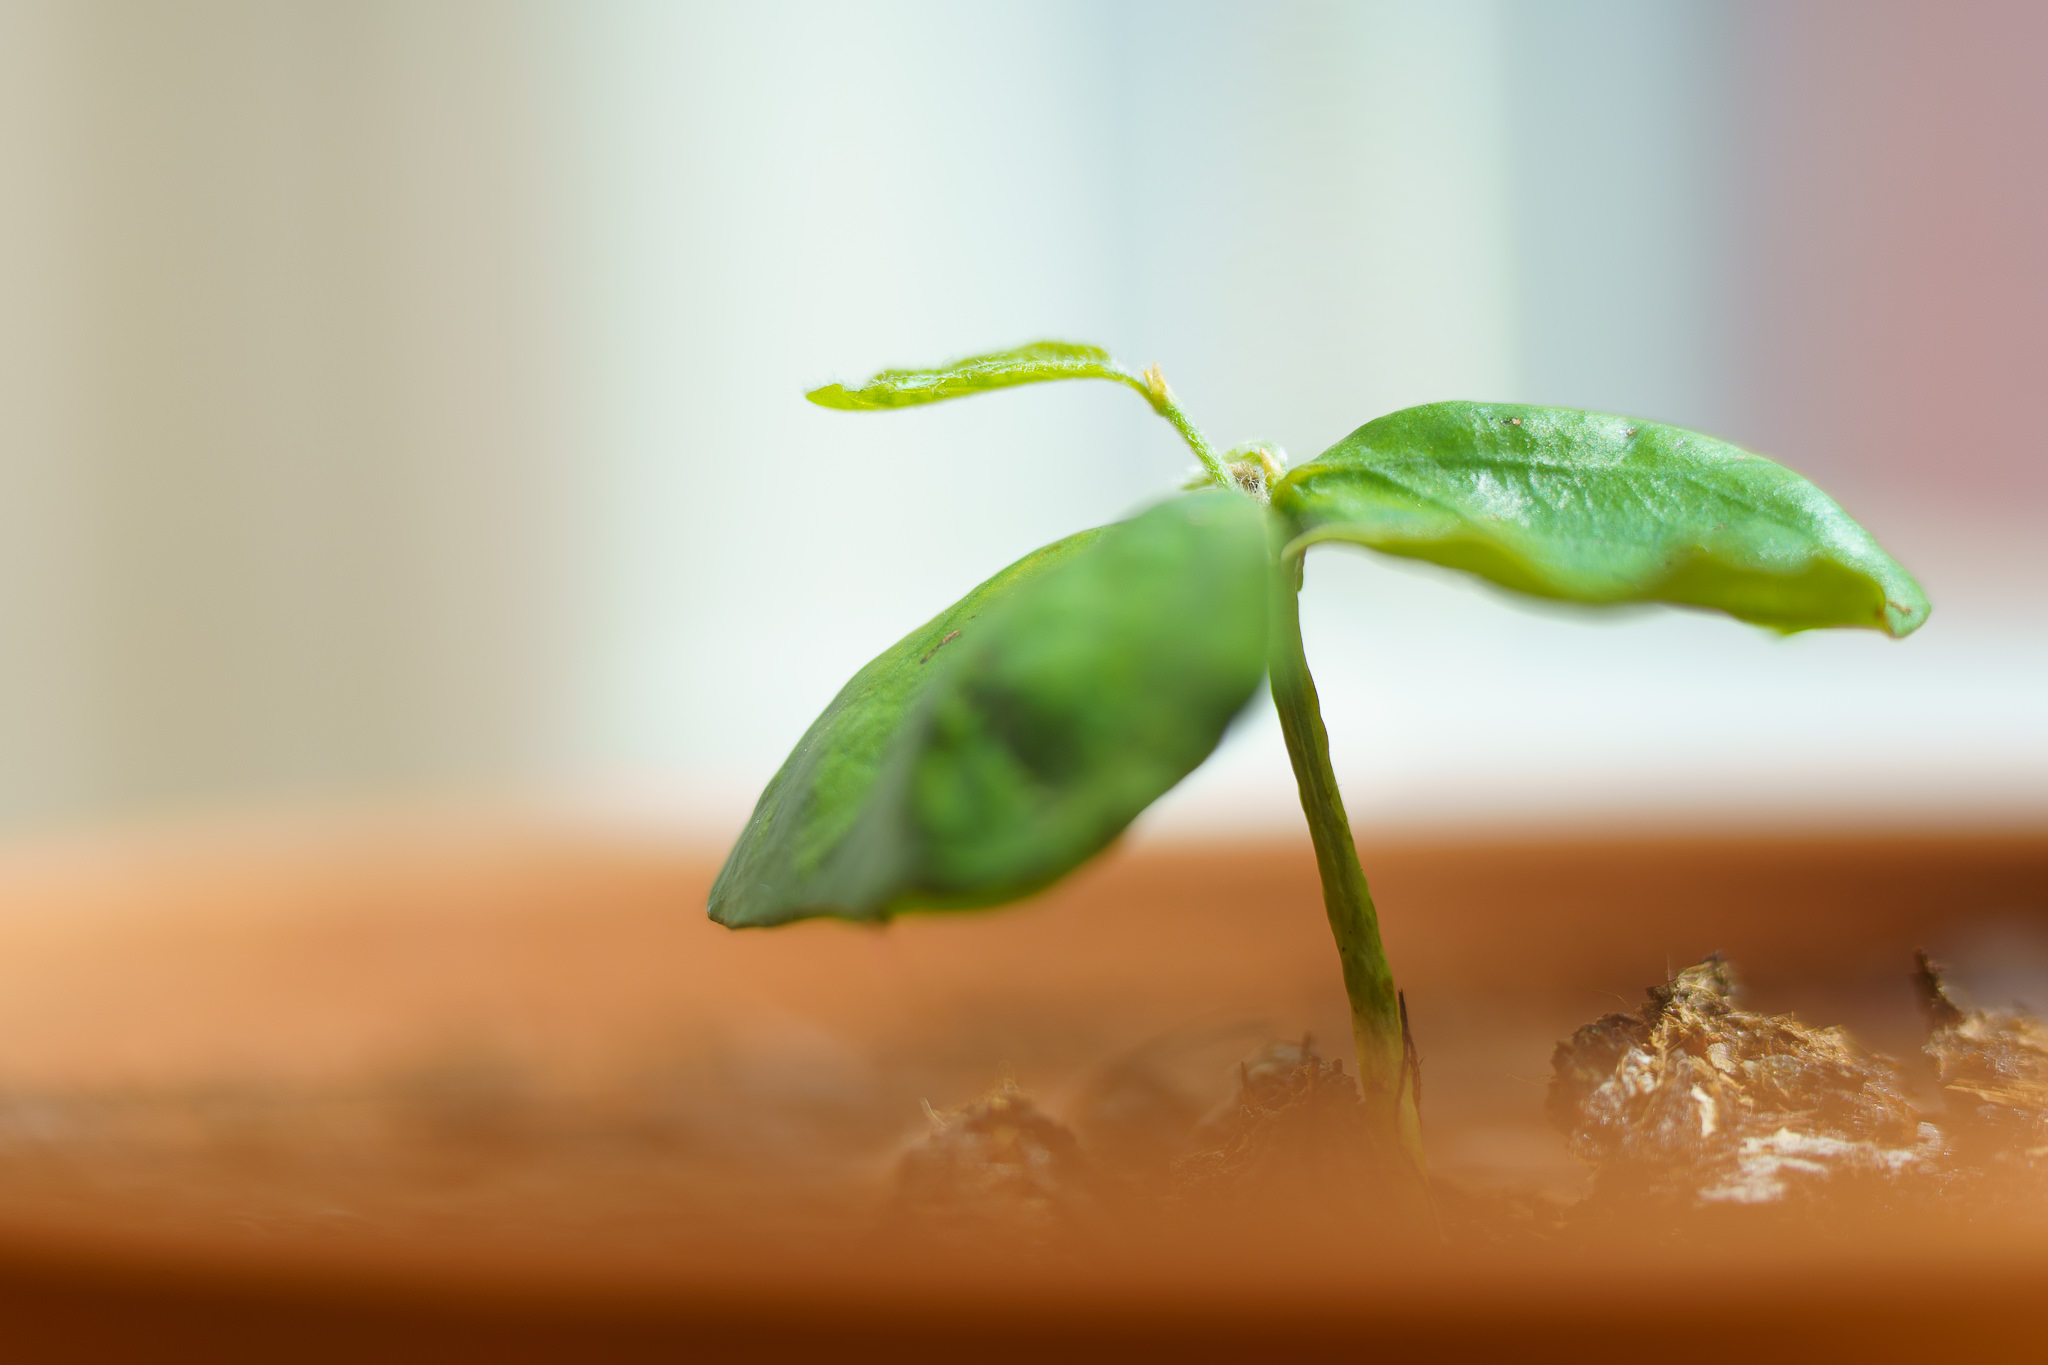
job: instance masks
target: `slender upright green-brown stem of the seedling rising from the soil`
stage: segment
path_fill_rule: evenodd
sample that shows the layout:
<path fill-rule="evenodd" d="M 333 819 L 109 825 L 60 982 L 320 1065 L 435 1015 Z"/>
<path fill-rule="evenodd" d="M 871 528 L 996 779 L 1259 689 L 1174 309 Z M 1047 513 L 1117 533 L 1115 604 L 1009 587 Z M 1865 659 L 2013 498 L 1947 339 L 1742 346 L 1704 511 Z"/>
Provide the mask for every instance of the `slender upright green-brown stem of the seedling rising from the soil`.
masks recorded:
<path fill-rule="evenodd" d="M 1380 917 L 1358 866 L 1358 843 L 1343 814 L 1337 774 L 1329 765 L 1329 733 L 1300 643 L 1300 553 L 1280 551 L 1274 581 L 1268 673 L 1280 731 L 1286 735 L 1300 810 L 1315 841 L 1323 878 L 1323 911 L 1343 964 L 1343 993 L 1352 1001 L 1352 1038 L 1358 1044 L 1358 1083 L 1378 1134 L 1395 1138 L 1407 1166 L 1423 1181 L 1421 1115 L 1415 1068 L 1403 1019 L 1401 993 L 1380 943 Z"/>

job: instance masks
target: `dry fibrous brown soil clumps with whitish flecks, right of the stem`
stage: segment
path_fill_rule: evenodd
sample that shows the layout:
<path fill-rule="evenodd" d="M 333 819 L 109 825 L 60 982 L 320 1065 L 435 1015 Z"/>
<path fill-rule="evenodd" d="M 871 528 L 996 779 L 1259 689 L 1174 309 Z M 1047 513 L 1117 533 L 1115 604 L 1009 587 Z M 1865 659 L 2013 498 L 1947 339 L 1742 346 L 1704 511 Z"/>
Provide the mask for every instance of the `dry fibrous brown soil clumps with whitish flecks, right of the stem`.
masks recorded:
<path fill-rule="evenodd" d="M 1948 1222 L 2048 1218 L 2048 1027 L 1964 1009 L 1917 954 L 1939 1101 L 1835 1027 L 1743 1009 L 1726 964 L 1686 968 L 1552 1056 L 1548 1109 L 1593 1166 L 1579 1216 L 1647 1201 L 1827 1214 L 1849 1195 Z"/>

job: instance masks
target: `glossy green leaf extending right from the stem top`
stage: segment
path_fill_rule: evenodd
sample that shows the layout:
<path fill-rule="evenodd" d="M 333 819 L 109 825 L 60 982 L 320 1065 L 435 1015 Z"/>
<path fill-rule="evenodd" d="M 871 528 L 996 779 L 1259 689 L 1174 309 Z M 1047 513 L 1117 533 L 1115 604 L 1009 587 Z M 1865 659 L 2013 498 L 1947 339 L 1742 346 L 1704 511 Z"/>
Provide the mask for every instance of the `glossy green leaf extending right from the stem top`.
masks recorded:
<path fill-rule="evenodd" d="M 1812 483 L 1634 417 L 1430 403 L 1358 428 L 1274 491 L 1313 540 L 1567 602 L 1675 602 L 1774 630 L 1927 620 L 1927 598 Z"/>

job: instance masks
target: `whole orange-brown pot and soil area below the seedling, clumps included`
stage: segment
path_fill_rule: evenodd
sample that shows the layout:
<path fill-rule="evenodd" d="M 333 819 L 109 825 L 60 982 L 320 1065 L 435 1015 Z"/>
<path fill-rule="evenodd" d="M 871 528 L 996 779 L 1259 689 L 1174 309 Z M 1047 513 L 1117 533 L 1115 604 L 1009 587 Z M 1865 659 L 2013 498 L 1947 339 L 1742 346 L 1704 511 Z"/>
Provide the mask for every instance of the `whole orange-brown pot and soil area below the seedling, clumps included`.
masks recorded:
<path fill-rule="evenodd" d="M 2048 984 L 2048 839 L 1413 841 L 1368 868 L 1427 1228 L 1356 1158 L 1300 849 L 754 935 L 698 921 L 707 860 L 561 829 L 16 857 L 0 1312 L 61 1265 L 78 1293 L 317 1289 L 350 1320 L 555 1306 L 586 1347 L 711 1320 L 913 1342 L 965 1312 L 1237 1355 L 1499 1328 L 1526 1355 L 1671 1293 L 1780 1314 L 1788 1349 L 1901 1347 L 1929 1265 L 1952 1308 L 2048 1277 L 2048 1029 L 1962 999 Z M 1630 1308 L 1577 1269 L 1614 1257 Z M 1995 1338 L 1958 1314 L 1927 1340 Z"/>

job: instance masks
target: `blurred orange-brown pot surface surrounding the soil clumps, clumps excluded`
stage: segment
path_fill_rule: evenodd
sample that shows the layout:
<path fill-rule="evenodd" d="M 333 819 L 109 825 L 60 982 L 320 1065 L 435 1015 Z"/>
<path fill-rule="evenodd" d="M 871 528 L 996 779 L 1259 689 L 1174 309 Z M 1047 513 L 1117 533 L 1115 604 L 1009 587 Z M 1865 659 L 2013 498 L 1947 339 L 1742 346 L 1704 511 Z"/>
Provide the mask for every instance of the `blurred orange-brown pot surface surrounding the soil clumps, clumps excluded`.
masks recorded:
<path fill-rule="evenodd" d="M 1901 1056 L 1915 948 L 1964 986 L 2048 982 L 2038 833 L 1405 839 L 1366 868 L 1460 1197 L 1577 1197 L 1552 1046 L 1708 952 L 1759 1007 Z M 23 1359 L 2034 1340 L 2048 1236 L 1882 1209 L 1567 1246 L 1298 1207 L 1038 1254 L 936 1244 L 887 1216 L 926 1105 L 1008 1076 L 1083 1126 L 1133 1074 L 1214 1103 L 1268 1038 L 1348 1054 L 1309 849 L 1112 853 L 1030 905 L 887 929 L 725 931 L 713 872 L 506 823 L 0 860 L 0 1322 Z"/>

